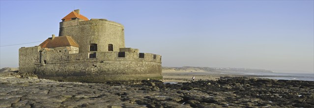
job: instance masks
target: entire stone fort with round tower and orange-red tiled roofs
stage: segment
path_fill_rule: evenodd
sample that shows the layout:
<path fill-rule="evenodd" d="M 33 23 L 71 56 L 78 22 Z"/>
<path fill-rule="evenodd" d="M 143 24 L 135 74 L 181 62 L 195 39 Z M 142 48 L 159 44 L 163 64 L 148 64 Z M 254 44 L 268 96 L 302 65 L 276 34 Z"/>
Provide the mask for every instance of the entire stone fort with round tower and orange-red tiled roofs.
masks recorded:
<path fill-rule="evenodd" d="M 39 46 L 20 48 L 19 71 L 57 81 L 162 79 L 161 55 L 125 48 L 123 25 L 89 20 L 80 10 L 62 18 L 58 36 Z"/>

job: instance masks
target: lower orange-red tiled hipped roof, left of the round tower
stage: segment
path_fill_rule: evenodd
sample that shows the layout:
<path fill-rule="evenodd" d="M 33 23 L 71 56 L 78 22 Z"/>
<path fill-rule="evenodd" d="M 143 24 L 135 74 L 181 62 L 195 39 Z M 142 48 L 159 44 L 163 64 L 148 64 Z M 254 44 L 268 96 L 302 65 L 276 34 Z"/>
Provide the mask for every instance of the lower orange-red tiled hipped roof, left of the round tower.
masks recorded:
<path fill-rule="evenodd" d="M 54 39 L 52 39 L 52 37 L 46 39 L 39 46 L 41 46 L 41 48 L 55 48 L 67 46 L 79 47 L 79 44 L 77 44 L 71 36 L 58 36 Z"/>

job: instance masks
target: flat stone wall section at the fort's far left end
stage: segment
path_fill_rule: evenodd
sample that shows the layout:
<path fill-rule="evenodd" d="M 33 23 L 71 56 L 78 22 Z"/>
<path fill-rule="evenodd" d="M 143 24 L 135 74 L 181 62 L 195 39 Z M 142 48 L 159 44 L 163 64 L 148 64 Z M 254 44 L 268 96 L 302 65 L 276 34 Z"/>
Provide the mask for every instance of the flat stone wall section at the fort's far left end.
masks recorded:
<path fill-rule="evenodd" d="M 19 49 L 19 71 L 20 73 L 33 73 L 40 63 L 40 46 L 22 47 Z M 37 64 L 37 65 L 36 65 Z"/>

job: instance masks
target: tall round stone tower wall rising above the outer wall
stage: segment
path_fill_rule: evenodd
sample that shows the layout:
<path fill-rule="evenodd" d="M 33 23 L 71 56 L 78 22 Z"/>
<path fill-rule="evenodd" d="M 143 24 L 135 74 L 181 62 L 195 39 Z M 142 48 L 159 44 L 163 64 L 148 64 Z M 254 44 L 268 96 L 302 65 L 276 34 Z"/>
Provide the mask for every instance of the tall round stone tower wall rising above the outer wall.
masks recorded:
<path fill-rule="evenodd" d="M 114 52 L 125 48 L 124 27 L 107 20 L 60 22 L 59 36 L 72 36 L 79 44 L 79 53 L 89 52 L 90 44 L 97 44 L 97 51 L 108 52 L 108 45 L 113 44 Z"/>

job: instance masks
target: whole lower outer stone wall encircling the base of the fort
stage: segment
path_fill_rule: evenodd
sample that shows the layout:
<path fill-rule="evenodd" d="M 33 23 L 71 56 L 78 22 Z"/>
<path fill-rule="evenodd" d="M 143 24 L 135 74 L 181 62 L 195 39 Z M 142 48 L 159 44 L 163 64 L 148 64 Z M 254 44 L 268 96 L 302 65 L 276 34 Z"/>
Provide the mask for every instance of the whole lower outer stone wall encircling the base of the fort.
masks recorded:
<path fill-rule="evenodd" d="M 70 47 L 20 49 L 20 71 L 38 78 L 77 81 L 134 81 L 162 79 L 161 55 L 135 52 L 93 52 L 69 54 Z M 119 56 L 123 53 L 124 56 Z"/>

